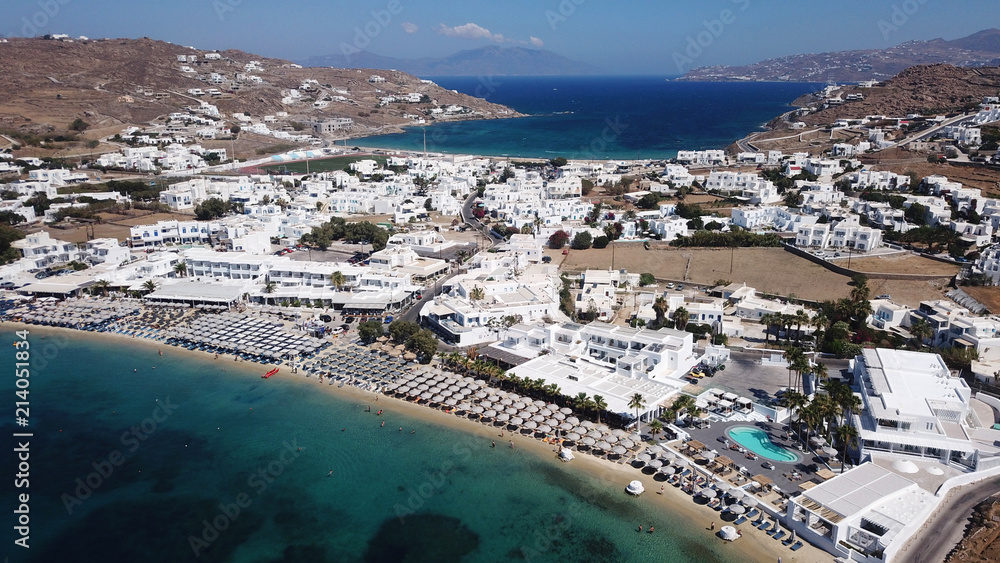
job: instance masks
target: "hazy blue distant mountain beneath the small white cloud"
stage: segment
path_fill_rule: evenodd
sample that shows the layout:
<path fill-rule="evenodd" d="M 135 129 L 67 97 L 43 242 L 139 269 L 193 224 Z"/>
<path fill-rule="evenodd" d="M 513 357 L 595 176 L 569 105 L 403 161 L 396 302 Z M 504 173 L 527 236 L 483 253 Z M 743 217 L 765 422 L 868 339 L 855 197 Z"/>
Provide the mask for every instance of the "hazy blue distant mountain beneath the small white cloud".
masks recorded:
<path fill-rule="evenodd" d="M 487 45 L 443 58 L 397 59 L 363 51 L 358 54 L 309 57 L 306 67 L 376 68 L 415 76 L 512 76 L 600 74 L 600 68 L 544 49 Z"/>

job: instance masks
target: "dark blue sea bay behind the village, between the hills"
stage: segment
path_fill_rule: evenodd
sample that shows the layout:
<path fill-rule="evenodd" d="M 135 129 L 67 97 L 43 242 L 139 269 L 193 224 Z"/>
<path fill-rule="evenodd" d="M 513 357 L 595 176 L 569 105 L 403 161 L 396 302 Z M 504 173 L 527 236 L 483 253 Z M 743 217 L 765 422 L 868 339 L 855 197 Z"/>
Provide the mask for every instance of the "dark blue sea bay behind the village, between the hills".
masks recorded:
<path fill-rule="evenodd" d="M 820 84 L 668 82 L 654 76 L 432 77 L 528 117 L 439 123 L 354 141 L 365 147 L 488 156 L 673 158 L 721 149 L 789 111 Z"/>

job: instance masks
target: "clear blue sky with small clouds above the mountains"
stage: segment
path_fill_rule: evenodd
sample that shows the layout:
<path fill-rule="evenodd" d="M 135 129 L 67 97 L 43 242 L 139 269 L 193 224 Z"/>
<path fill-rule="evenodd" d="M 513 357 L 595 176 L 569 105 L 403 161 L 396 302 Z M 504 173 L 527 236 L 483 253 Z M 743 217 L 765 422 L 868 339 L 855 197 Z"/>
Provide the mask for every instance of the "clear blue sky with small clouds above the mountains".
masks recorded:
<path fill-rule="evenodd" d="M 747 64 L 955 39 L 1000 22 L 1000 2 L 971 0 L 0 0 L 0 10 L 7 36 L 146 36 L 293 60 L 523 45 L 609 74 L 664 75 L 677 74 L 679 62 Z"/>

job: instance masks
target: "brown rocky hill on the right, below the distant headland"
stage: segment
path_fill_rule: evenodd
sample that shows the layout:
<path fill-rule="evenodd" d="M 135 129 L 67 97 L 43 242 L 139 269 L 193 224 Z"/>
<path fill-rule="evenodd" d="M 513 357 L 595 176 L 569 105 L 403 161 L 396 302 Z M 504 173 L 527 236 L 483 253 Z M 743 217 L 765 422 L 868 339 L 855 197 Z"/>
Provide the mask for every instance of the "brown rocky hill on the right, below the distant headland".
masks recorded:
<path fill-rule="evenodd" d="M 948 114 L 970 109 L 984 97 L 1000 94 L 1000 68 L 960 68 L 951 65 L 927 65 L 908 68 L 873 88 L 847 87 L 839 96 L 860 94 L 860 100 L 845 101 L 806 115 L 808 124 L 833 123 L 840 118 L 856 119 L 866 115 L 905 116 Z M 815 95 L 804 96 L 794 105 L 820 104 Z"/>

